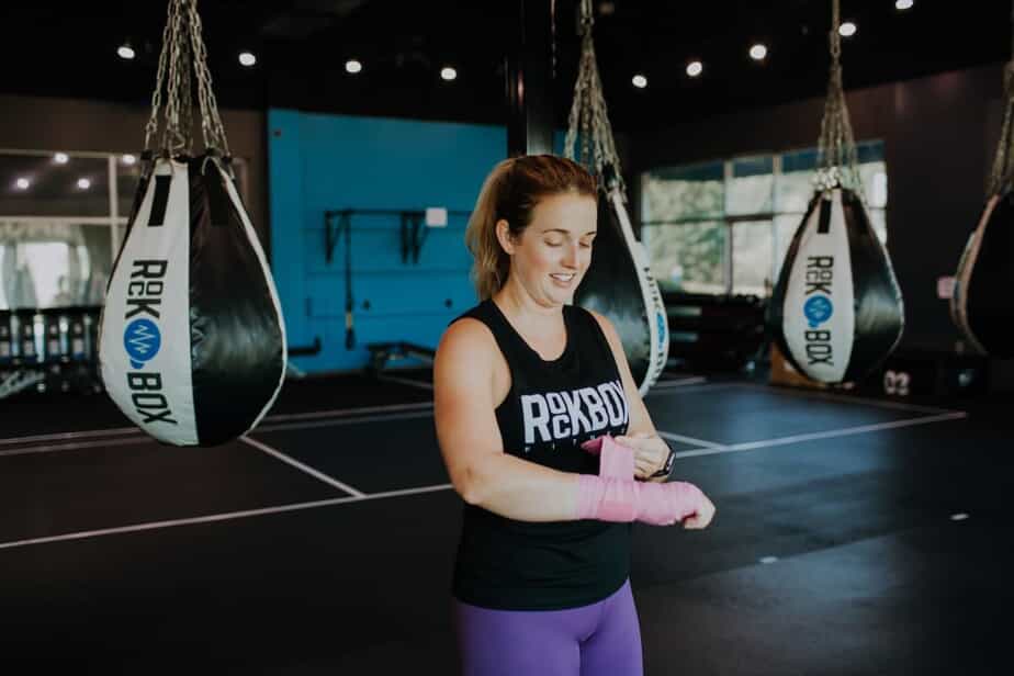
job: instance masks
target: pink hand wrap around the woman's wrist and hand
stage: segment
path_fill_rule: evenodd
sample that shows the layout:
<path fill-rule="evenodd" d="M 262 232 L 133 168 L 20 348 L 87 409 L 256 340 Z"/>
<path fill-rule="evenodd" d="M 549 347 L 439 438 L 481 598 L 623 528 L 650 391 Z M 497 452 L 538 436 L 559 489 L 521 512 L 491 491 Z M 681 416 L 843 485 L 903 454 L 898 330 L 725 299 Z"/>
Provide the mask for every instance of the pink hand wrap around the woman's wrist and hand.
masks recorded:
<path fill-rule="evenodd" d="M 634 481 L 633 451 L 611 437 L 600 437 L 582 444 L 589 453 L 600 454 L 599 475 L 577 477 L 577 518 L 599 521 L 643 521 L 669 526 L 697 514 L 703 494 L 694 484 L 668 482 L 656 484 Z"/>

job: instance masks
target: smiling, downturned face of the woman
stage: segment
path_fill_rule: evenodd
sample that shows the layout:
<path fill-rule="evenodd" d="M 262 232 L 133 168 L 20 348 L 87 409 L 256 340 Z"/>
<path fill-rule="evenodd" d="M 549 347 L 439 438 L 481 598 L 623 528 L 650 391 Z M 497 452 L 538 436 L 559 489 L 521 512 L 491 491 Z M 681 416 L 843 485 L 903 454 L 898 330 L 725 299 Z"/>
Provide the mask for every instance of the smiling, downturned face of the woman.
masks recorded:
<path fill-rule="evenodd" d="M 510 277 L 540 305 L 572 303 L 592 263 L 597 218 L 598 204 L 588 195 L 563 193 L 540 200 L 520 240 L 505 246 L 511 255 Z M 506 222 L 498 227 L 506 228 Z"/>

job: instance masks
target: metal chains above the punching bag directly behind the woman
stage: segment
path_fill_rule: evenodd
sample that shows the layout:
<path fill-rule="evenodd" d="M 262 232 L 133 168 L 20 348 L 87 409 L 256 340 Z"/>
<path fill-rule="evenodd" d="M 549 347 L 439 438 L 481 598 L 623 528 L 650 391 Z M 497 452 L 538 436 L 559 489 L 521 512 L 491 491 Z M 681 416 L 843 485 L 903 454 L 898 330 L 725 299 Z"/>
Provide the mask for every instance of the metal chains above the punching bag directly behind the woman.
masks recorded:
<path fill-rule="evenodd" d="M 620 157 L 616 151 L 602 81 L 595 59 L 595 42 L 592 24 L 595 23 L 592 0 L 581 2 L 581 63 L 577 81 L 574 84 L 574 102 L 567 121 L 567 135 L 563 142 L 564 156 L 587 167 L 594 174 L 602 177 L 607 166 L 611 167 L 623 201 L 627 188 L 620 171 Z M 581 153 L 574 155 L 574 146 L 581 138 Z"/>

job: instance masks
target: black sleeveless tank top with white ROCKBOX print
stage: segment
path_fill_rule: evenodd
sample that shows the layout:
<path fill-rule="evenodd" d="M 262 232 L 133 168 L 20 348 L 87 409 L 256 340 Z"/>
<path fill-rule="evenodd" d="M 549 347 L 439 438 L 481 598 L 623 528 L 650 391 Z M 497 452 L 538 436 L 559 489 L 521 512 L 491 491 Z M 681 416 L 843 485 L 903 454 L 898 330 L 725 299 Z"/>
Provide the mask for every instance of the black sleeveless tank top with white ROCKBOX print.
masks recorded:
<path fill-rule="evenodd" d="M 504 452 L 541 465 L 598 474 L 579 443 L 627 432 L 623 383 L 595 317 L 565 305 L 566 348 L 547 361 L 492 300 L 458 317 L 493 331 L 510 369 L 510 391 L 496 408 Z M 455 319 L 455 322 L 458 320 Z M 453 594 L 474 606 L 557 610 L 602 600 L 630 573 L 630 523 L 516 521 L 464 506 Z"/>

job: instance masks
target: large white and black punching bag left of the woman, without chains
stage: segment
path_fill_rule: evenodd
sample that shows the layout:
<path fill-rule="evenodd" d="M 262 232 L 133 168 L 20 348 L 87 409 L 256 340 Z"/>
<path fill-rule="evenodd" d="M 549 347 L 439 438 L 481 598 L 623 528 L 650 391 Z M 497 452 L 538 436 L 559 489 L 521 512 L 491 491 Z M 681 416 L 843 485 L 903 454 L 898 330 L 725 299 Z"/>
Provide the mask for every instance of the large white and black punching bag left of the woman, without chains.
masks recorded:
<path fill-rule="evenodd" d="M 278 293 L 222 162 L 149 167 L 101 317 L 106 391 L 140 429 L 176 446 L 249 431 L 285 376 Z"/>

